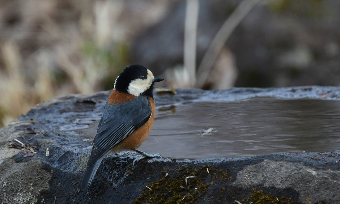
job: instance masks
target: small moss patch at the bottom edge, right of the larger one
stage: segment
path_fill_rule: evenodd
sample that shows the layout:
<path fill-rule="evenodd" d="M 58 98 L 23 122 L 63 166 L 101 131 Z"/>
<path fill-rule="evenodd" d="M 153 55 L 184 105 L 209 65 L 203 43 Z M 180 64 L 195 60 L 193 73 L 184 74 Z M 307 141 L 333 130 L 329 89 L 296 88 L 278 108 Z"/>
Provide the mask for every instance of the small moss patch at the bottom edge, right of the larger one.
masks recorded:
<path fill-rule="evenodd" d="M 292 201 L 292 198 L 281 197 L 277 198 L 275 195 L 272 194 L 265 194 L 263 190 L 256 190 L 253 189 L 250 192 L 248 198 L 245 199 L 242 203 L 244 204 L 292 204 L 297 203 Z"/>

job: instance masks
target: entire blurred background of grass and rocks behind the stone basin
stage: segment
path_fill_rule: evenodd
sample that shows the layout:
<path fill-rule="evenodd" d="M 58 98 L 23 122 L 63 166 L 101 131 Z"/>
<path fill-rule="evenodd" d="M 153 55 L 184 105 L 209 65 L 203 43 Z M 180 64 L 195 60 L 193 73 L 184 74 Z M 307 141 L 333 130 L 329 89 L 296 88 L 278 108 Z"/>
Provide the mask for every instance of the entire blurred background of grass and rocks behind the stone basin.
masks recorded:
<path fill-rule="evenodd" d="M 130 64 L 167 87 L 339 86 L 340 1 L 0 1 L 0 127 Z"/>

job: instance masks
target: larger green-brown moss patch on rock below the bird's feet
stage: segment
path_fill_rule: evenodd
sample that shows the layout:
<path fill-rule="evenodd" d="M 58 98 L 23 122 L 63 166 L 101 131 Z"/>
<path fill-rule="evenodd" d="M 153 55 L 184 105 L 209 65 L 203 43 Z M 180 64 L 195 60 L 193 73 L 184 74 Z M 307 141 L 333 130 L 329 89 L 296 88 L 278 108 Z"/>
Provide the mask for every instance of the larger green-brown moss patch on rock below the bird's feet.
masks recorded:
<path fill-rule="evenodd" d="M 207 171 L 207 168 L 209 172 Z M 195 176 L 187 179 L 188 176 Z M 202 199 L 207 192 L 211 182 L 216 178 L 228 180 L 229 173 L 217 170 L 213 167 L 201 166 L 192 169 L 184 167 L 177 169 L 171 175 L 163 177 L 157 182 L 148 184 L 151 188 L 145 188 L 140 197 L 133 204 L 153 203 L 153 204 L 183 204 L 196 203 L 198 199 Z"/>

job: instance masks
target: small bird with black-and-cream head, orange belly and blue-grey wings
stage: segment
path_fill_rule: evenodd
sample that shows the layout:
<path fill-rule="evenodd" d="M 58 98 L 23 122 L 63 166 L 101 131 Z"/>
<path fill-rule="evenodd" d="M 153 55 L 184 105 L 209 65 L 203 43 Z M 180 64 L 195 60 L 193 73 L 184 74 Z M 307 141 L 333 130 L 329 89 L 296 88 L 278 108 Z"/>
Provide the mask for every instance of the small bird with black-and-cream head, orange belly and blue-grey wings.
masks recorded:
<path fill-rule="evenodd" d="M 137 150 L 149 135 L 155 118 L 154 83 L 163 81 L 141 66 L 126 67 L 116 78 L 114 88 L 105 104 L 87 168 L 78 188 L 87 190 L 102 159 L 109 153 Z"/>

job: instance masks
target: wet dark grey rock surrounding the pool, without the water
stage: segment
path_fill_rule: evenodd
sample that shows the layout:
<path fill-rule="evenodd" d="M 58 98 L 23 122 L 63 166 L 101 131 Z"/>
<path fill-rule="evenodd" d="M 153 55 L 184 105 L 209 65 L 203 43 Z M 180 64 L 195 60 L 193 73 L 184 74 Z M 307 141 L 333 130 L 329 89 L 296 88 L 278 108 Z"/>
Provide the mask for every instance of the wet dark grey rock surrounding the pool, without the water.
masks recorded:
<path fill-rule="evenodd" d="M 100 118 L 109 93 L 51 99 L 0 130 L 1 204 L 165 203 L 165 200 L 246 203 L 250 195 L 261 190 L 275 198 L 292 198 L 298 203 L 340 203 L 340 163 L 337 162 L 340 151 L 198 160 L 152 158 L 142 159 L 134 166 L 132 161 L 139 155 L 108 155 L 89 190 L 81 192 L 76 184 L 90 153 L 86 149 L 88 143 L 79 132 L 62 129 L 82 127 L 75 118 Z M 228 102 L 256 96 L 336 100 L 340 88 L 179 89 L 176 95 L 155 94 L 155 101 L 160 108 L 164 104 Z M 195 177 L 187 178 L 186 184 L 187 176 Z"/>

